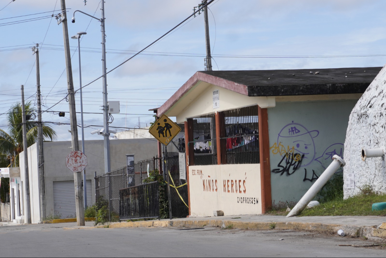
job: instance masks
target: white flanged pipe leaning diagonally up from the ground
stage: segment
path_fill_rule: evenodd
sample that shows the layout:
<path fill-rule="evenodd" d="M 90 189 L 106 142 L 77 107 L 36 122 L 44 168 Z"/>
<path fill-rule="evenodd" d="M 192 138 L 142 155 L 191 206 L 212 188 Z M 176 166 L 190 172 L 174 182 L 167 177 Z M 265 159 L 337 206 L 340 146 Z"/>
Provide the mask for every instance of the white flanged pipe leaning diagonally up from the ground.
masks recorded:
<path fill-rule="evenodd" d="M 346 165 L 344 160 L 338 155 L 332 157 L 333 161 L 326 168 L 326 170 L 320 175 L 320 177 L 315 181 L 315 183 L 308 189 L 305 195 L 301 197 L 300 201 L 295 205 L 295 207 L 288 213 L 287 217 L 292 217 L 298 215 L 307 204 L 316 196 L 316 194 L 322 189 L 322 187 L 327 183 L 327 181 L 334 175 L 335 171 L 338 170 L 341 166 Z"/>

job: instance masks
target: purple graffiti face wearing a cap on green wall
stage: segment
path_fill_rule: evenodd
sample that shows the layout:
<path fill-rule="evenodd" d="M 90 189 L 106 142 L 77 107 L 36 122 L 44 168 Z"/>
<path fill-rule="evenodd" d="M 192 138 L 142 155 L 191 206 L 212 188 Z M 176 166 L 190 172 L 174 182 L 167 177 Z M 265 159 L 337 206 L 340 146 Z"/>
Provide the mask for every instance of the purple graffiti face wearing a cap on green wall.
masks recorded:
<path fill-rule="evenodd" d="M 301 124 L 288 124 L 281 129 L 278 135 L 278 146 L 282 144 L 288 154 L 304 155 L 301 166 L 309 165 L 315 158 L 315 144 L 313 138 L 319 131 L 308 131 Z M 281 153 L 282 156 L 285 155 Z"/>

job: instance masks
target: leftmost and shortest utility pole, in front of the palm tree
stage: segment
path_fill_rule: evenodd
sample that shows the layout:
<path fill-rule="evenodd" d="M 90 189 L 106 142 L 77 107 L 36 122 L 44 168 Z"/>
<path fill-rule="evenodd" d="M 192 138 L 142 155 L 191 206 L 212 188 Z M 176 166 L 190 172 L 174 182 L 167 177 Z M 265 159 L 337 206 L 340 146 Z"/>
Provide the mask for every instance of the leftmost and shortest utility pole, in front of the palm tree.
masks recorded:
<path fill-rule="evenodd" d="M 27 146 L 27 125 L 25 124 L 24 85 L 22 90 L 22 123 L 23 123 L 23 151 L 24 151 L 24 175 L 25 175 L 25 201 L 27 202 L 25 214 L 27 224 L 31 224 L 31 202 L 29 195 L 29 173 L 28 173 L 28 146 Z"/>

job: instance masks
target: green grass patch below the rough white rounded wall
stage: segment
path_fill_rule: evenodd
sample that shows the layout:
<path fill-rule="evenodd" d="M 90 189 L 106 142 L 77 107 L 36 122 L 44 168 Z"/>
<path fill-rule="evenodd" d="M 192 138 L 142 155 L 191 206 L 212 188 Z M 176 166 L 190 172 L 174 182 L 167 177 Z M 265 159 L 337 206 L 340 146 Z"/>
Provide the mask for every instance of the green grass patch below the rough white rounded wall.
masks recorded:
<path fill-rule="evenodd" d="M 304 209 L 299 216 L 386 216 L 386 210 L 371 210 L 373 203 L 386 201 L 386 194 L 365 192 L 346 200 L 334 199 L 312 209 Z"/>

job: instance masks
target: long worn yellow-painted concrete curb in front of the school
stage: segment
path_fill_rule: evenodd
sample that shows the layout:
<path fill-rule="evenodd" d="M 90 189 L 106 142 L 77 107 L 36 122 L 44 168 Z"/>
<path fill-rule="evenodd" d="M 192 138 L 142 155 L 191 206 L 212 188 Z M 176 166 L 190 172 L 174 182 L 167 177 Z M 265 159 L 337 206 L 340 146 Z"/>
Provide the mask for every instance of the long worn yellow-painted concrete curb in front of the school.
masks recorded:
<path fill-rule="evenodd" d="M 322 224 L 310 222 L 241 222 L 222 219 L 208 220 L 171 220 L 171 221 L 133 221 L 133 222 L 112 222 L 96 226 L 97 228 L 118 228 L 118 227 L 221 227 L 228 229 L 296 229 L 304 231 L 318 231 L 336 234 L 339 229 L 343 229 L 347 236 L 356 237 L 386 237 L 386 229 L 376 229 L 376 227 L 351 226 L 340 224 Z"/>

